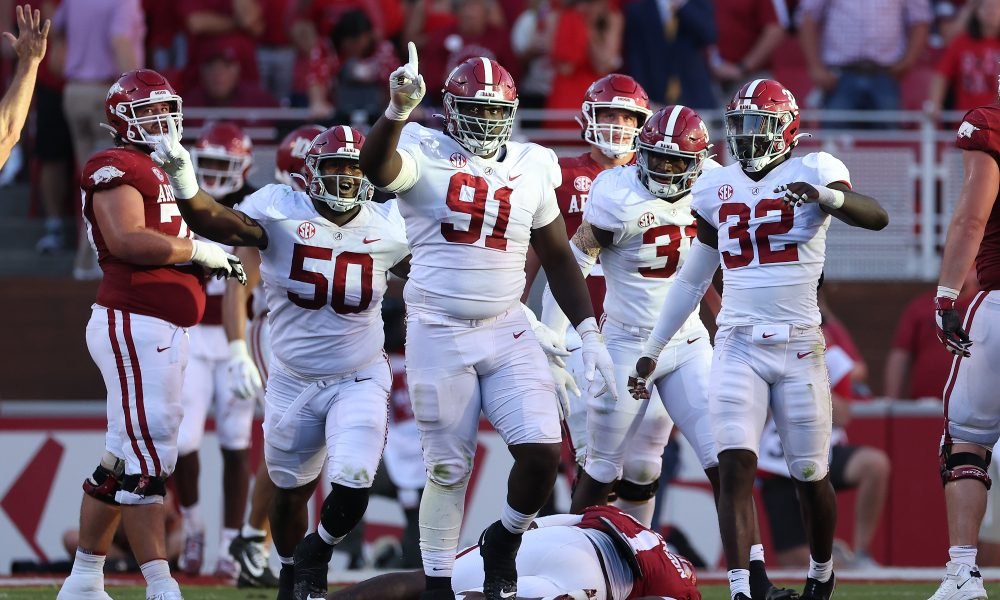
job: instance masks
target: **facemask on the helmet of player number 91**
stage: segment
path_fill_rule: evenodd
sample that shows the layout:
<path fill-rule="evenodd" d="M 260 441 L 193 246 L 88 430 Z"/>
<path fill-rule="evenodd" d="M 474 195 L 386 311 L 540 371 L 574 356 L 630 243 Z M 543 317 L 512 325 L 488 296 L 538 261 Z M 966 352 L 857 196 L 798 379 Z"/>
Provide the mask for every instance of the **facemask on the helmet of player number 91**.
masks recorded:
<path fill-rule="evenodd" d="M 492 156 L 510 139 L 514 129 L 517 104 L 516 98 L 514 100 L 459 98 L 450 92 L 446 93 L 444 105 L 448 133 L 476 156 Z M 483 110 L 486 107 L 499 107 L 503 116 L 499 119 L 487 119 L 463 112 L 463 109 L 467 111 L 473 107 L 480 107 Z"/>

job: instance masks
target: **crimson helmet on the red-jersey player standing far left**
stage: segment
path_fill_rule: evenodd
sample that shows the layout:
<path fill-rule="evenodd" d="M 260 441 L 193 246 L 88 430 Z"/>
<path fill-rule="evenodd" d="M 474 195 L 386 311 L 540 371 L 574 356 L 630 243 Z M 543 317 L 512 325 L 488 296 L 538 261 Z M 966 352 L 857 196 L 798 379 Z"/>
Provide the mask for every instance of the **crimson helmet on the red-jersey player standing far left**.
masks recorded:
<path fill-rule="evenodd" d="M 138 115 L 142 107 L 160 102 L 172 105 L 169 113 Z M 156 145 L 161 131 L 166 132 L 167 119 L 174 120 L 178 135 L 183 133 L 181 97 L 166 77 L 151 69 L 129 71 L 111 84 L 104 111 L 108 119 L 105 127 L 129 144 Z"/>

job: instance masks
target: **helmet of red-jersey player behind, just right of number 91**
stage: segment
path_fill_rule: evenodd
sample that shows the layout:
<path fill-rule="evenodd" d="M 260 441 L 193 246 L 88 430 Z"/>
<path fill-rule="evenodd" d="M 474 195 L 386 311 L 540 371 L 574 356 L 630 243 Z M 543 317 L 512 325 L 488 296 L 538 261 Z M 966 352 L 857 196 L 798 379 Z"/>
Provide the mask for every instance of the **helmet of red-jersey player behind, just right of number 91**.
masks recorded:
<path fill-rule="evenodd" d="M 635 113 L 635 127 L 612 123 L 598 123 L 597 112 L 617 108 Z M 628 75 L 612 73 L 590 84 L 583 96 L 583 139 L 600 148 L 608 158 L 621 158 L 635 151 L 635 138 L 653 111 L 649 110 L 649 96 L 635 79 Z"/>

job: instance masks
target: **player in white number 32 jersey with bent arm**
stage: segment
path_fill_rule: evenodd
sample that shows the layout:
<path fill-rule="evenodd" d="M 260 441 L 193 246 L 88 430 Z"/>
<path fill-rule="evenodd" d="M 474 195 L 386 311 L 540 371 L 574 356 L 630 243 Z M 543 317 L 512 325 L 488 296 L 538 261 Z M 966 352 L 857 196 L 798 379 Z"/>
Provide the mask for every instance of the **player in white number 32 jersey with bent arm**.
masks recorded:
<path fill-rule="evenodd" d="M 734 600 L 748 600 L 752 501 L 760 435 L 768 409 L 796 480 L 809 532 L 804 600 L 833 594 L 836 497 L 830 485 L 831 404 L 816 288 L 830 215 L 865 229 L 884 228 L 878 202 L 851 190 L 833 156 L 793 158 L 799 110 L 784 86 L 745 84 L 726 108 L 726 138 L 736 163 L 705 172 L 692 188 L 697 241 L 667 292 L 629 386 L 637 397 L 663 348 L 698 306 L 720 262 L 722 309 L 709 389 L 719 452 L 719 528 Z"/>

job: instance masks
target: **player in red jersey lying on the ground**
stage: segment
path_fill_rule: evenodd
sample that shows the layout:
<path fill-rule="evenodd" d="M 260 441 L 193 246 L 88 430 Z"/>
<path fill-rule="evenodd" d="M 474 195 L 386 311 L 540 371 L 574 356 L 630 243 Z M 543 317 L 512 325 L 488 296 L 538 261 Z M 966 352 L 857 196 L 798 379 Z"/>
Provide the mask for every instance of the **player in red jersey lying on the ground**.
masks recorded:
<path fill-rule="evenodd" d="M 483 560 L 477 546 L 455 561 L 452 591 L 460 600 L 483 598 Z M 698 577 L 660 534 L 613 506 L 579 515 L 536 519 L 517 555 L 521 600 L 700 600 Z M 416 600 L 419 571 L 380 575 L 330 594 L 330 600 Z M 512 596 L 513 598 L 513 596 Z"/>

